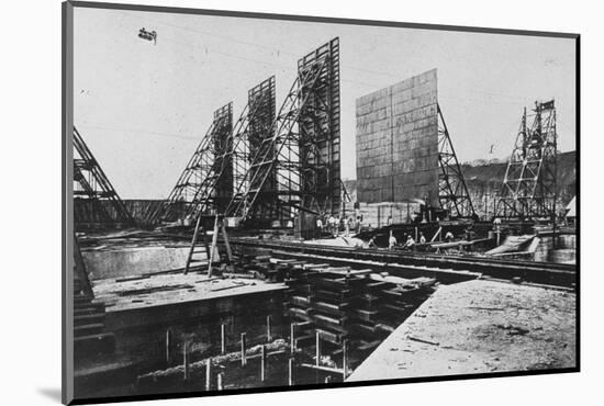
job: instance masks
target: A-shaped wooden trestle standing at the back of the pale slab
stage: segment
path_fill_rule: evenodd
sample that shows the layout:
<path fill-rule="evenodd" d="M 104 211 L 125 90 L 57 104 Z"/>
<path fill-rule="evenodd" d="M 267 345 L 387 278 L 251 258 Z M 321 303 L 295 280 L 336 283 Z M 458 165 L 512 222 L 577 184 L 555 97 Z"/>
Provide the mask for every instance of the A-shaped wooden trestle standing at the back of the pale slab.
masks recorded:
<path fill-rule="evenodd" d="M 222 236 L 224 238 L 224 246 L 226 248 L 226 257 L 227 257 L 227 263 L 231 266 L 233 263 L 233 251 L 231 250 L 231 244 L 228 243 L 228 236 L 226 234 L 226 226 L 224 224 L 223 216 L 220 216 L 216 214 L 214 217 L 214 233 L 212 235 L 212 245 L 209 246 L 208 241 L 205 239 L 205 229 L 202 225 L 202 216 L 199 215 L 197 223 L 195 223 L 195 230 L 193 232 L 193 239 L 191 240 L 191 248 L 189 248 L 189 256 L 187 257 L 187 264 L 184 267 L 184 274 L 189 273 L 189 270 L 191 269 L 192 263 L 199 263 L 199 262 L 208 262 L 208 277 L 212 277 L 212 267 L 214 264 L 214 261 L 216 258 L 214 258 L 214 253 L 217 251 L 217 245 L 219 245 L 219 234 L 222 232 Z M 199 250 L 199 238 L 201 234 L 201 244 L 203 245 L 204 249 Z M 201 253 L 205 253 L 205 259 L 197 258 L 195 256 L 199 256 Z M 220 258 L 217 258 L 220 261 Z"/>

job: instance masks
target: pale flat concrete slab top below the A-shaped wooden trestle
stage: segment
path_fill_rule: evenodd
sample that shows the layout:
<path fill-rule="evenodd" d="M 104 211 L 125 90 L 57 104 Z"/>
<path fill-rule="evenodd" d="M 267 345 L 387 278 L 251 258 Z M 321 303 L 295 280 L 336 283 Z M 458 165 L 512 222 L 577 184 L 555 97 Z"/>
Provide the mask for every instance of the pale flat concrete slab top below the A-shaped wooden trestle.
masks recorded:
<path fill-rule="evenodd" d="M 122 282 L 105 279 L 92 284 L 94 301 L 103 302 L 108 313 L 286 289 L 282 283 L 238 278 L 209 279 L 200 273 L 158 274 Z"/>

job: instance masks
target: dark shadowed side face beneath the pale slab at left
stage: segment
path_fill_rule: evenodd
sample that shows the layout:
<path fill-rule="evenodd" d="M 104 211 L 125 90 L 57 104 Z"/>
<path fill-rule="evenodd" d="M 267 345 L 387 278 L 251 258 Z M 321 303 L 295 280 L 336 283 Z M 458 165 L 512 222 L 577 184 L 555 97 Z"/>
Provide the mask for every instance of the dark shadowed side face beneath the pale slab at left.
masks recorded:
<path fill-rule="evenodd" d="M 280 291 L 247 295 L 225 295 L 205 301 L 175 301 L 163 306 L 146 306 L 109 312 L 108 330 L 115 334 L 118 350 L 132 358 L 149 361 L 166 354 L 166 330 L 172 334 L 172 364 L 182 363 L 182 345 L 193 342 L 193 353 L 216 354 L 221 343 L 221 324 L 225 324 L 227 351 L 239 348 L 242 332 L 247 345 L 266 342 L 266 317 L 271 316 L 272 337 L 288 330 L 282 320 L 283 296 Z"/>

